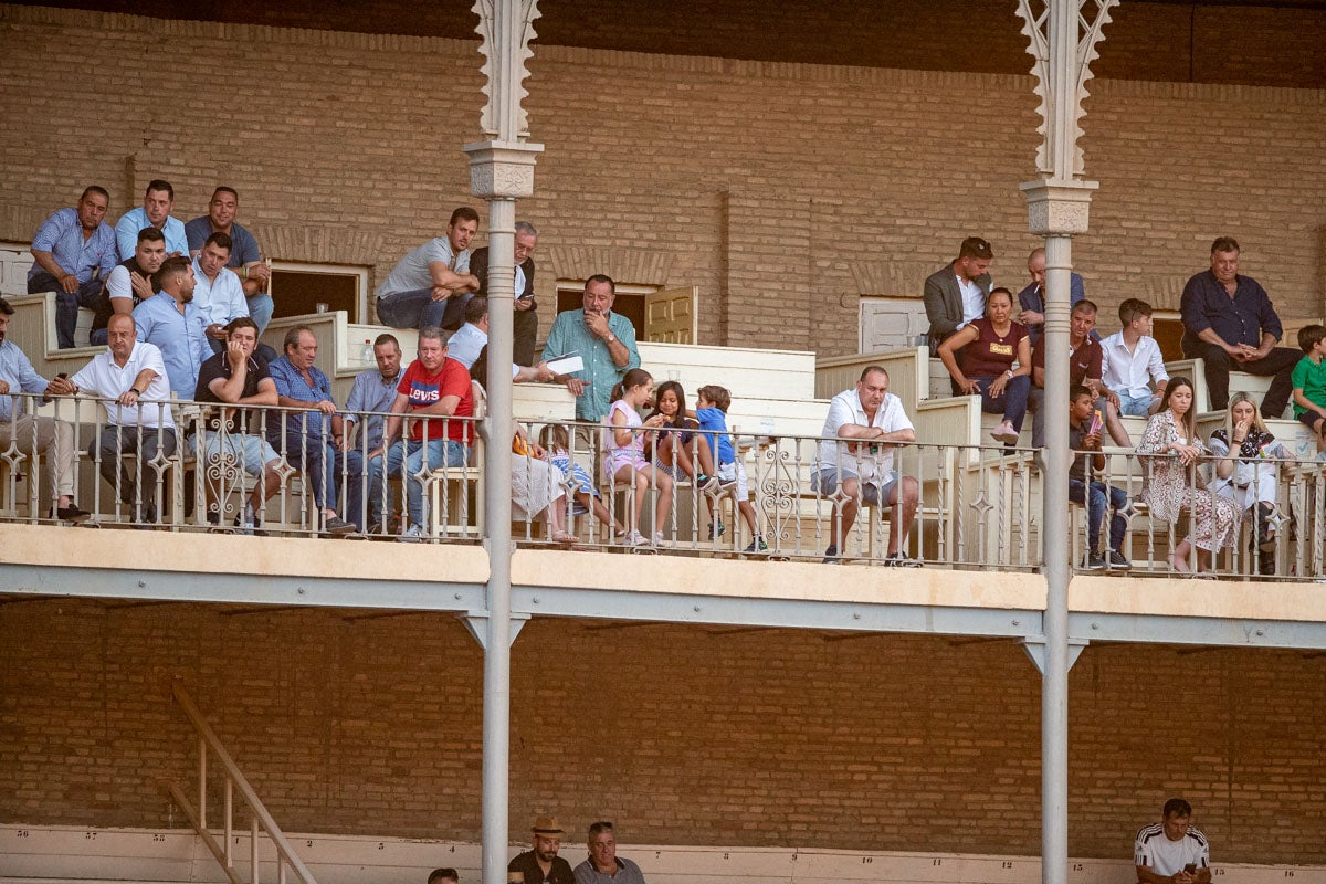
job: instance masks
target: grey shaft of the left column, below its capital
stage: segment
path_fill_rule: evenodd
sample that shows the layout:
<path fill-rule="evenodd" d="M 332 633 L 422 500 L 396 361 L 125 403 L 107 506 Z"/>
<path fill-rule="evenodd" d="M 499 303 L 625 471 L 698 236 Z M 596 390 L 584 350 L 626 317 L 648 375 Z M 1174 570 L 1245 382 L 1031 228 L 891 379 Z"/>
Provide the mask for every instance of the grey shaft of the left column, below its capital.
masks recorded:
<path fill-rule="evenodd" d="M 509 831 L 514 224 L 516 201 L 492 197 L 488 203 L 488 445 L 484 452 L 484 535 L 489 569 L 488 641 L 484 647 L 484 884 L 505 884 Z"/>

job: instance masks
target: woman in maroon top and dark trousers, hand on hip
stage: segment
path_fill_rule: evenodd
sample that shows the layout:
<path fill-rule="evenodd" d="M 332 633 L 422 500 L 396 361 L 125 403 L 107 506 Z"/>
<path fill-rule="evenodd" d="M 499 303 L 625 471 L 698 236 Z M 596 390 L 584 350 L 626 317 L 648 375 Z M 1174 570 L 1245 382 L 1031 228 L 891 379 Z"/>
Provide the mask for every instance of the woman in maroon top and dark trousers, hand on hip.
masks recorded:
<path fill-rule="evenodd" d="M 1013 322 L 1013 293 L 994 289 L 985 300 L 985 318 L 975 319 L 939 345 L 939 358 L 957 388 L 981 398 L 981 411 L 1004 415 L 991 436 L 1016 445 L 1032 388 L 1032 343 L 1026 326 Z M 963 364 L 957 366 L 957 351 Z M 1017 367 L 1013 367 L 1017 363 Z"/>

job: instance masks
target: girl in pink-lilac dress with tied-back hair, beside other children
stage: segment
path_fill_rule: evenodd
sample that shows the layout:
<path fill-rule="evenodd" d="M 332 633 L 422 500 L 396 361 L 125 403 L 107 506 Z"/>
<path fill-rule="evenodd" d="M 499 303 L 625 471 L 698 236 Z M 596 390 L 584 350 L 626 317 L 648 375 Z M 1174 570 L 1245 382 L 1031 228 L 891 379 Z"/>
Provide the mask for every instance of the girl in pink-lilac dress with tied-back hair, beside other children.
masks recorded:
<path fill-rule="evenodd" d="M 607 412 L 606 456 L 603 476 L 613 488 L 629 485 L 635 489 L 630 534 L 627 542 L 633 546 L 646 546 L 650 541 L 640 533 L 640 510 L 650 486 L 658 489 L 654 502 L 654 546 L 664 543 L 663 525 L 672 509 L 672 477 L 662 469 L 655 469 L 644 457 L 644 428 L 663 425 L 663 415 L 652 415 L 640 420 L 639 410 L 654 396 L 654 378 L 643 368 L 631 368 L 622 382 L 613 387 L 613 407 Z"/>

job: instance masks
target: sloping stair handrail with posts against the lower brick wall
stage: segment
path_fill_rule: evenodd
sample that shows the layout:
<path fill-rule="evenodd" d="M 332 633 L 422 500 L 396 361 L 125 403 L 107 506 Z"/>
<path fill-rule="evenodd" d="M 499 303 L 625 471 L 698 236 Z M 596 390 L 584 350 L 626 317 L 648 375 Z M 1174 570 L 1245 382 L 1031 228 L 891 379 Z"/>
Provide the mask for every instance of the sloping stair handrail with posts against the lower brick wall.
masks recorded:
<path fill-rule="evenodd" d="M 305 867 L 304 861 L 300 859 L 298 854 L 290 846 L 290 842 L 281 832 L 281 827 L 276 824 L 272 815 L 263 806 L 261 799 L 253 787 L 249 786 L 248 779 L 240 773 L 239 766 L 231 754 L 221 745 L 221 741 L 216 737 L 216 732 L 212 726 L 207 724 L 207 718 L 203 713 L 198 710 L 194 704 L 192 697 L 188 696 L 178 683 L 174 685 L 175 701 L 179 704 L 180 709 L 188 717 L 190 722 L 194 725 L 194 730 L 198 733 L 198 806 L 188 799 L 184 790 L 174 782 L 163 783 L 166 791 L 175 801 L 179 808 L 188 818 L 190 824 L 198 836 L 211 851 L 216 861 L 221 864 L 221 869 L 225 872 L 225 877 L 231 884 L 261 884 L 261 846 L 263 836 L 271 842 L 272 847 L 276 850 L 276 880 L 278 884 L 286 884 L 286 872 L 294 875 L 297 881 L 301 884 L 317 884 L 317 880 Z M 224 773 L 224 798 L 221 806 L 223 828 L 221 828 L 221 843 L 216 843 L 216 835 L 207 826 L 207 759 L 208 753 L 216 757 L 221 765 L 221 771 Z M 248 808 L 249 815 L 249 877 L 248 881 L 240 876 L 239 869 L 235 867 L 235 855 L 232 852 L 232 846 L 239 840 L 235 836 L 235 793 L 239 791 L 240 799 Z"/>

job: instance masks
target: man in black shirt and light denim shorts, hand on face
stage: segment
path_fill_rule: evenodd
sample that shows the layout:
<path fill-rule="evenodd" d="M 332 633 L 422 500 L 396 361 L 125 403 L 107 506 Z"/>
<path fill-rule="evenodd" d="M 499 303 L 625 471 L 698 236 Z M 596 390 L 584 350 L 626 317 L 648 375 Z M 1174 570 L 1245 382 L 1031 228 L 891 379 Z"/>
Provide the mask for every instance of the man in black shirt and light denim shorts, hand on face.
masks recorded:
<path fill-rule="evenodd" d="M 198 390 L 194 399 L 200 403 L 221 406 L 274 406 L 277 404 L 276 382 L 268 374 L 267 360 L 257 353 L 257 323 L 248 317 L 232 319 L 225 326 L 225 350 L 206 359 L 198 368 Z M 268 421 L 280 420 L 278 412 L 265 415 Z M 210 464 L 219 460 L 237 463 L 245 473 L 261 477 L 253 486 L 244 512 L 235 524 L 244 533 L 253 533 L 260 525 L 259 512 L 263 501 L 280 489 L 281 457 L 263 437 L 264 414 L 244 408 L 210 410 L 206 419 L 203 439 L 199 444 L 199 457 L 206 456 Z M 212 472 L 212 470 L 210 470 Z M 210 501 L 207 518 L 220 524 L 220 508 L 225 498 L 229 470 L 216 470 L 221 474 L 219 493 Z M 210 497 L 217 489 L 208 482 Z"/>

